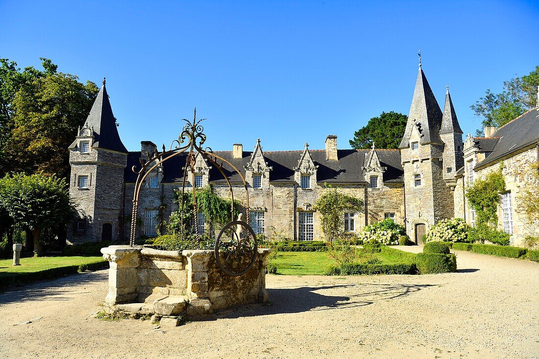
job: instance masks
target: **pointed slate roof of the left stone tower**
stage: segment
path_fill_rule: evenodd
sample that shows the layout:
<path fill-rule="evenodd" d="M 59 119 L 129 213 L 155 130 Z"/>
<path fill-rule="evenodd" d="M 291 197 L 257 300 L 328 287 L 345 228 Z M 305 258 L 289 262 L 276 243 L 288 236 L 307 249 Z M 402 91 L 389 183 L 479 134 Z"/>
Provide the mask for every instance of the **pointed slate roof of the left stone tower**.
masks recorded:
<path fill-rule="evenodd" d="M 123 153 L 128 152 L 118 134 L 116 119 L 112 113 L 112 107 L 110 107 L 104 79 L 103 86 L 99 89 L 98 96 L 95 98 L 86 119 L 85 127 L 93 128 L 94 130 L 95 140 L 92 147 L 106 148 Z"/>

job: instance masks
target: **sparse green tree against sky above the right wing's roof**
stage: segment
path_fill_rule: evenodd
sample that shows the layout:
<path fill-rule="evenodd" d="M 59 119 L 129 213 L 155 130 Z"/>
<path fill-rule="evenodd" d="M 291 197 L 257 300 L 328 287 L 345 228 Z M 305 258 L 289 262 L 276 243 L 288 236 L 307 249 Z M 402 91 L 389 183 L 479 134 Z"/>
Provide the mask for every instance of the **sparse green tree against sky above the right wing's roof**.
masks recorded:
<path fill-rule="evenodd" d="M 496 94 L 487 89 L 485 96 L 470 108 L 483 119 L 483 126 L 500 127 L 537 105 L 537 86 L 539 66 L 528 75 L 504 81 L 501 93 Z M 482 130 L 478 129 L 477 133 L 480 135 Z"/>

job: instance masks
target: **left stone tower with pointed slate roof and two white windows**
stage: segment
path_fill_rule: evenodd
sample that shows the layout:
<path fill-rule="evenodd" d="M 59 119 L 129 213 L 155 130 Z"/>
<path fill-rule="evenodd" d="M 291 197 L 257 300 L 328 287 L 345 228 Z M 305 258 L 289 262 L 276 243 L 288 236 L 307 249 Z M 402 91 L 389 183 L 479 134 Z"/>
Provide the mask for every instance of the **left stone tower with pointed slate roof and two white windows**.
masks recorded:
<path fill-rule="evenodd" d="M 119 238 L 127 149 L 116 128 L 104 78 L 88 118 L 69 150 L 70 196 L 79 217 L 67 229 L 68 242 Z"/>

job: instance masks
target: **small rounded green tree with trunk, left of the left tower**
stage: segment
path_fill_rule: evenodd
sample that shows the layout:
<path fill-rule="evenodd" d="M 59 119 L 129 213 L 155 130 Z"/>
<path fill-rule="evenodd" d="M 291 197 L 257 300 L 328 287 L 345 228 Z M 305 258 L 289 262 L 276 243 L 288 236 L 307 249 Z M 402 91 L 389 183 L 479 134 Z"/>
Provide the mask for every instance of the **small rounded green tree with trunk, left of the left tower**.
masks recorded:
<path fill-rule="evenodd" d="M 37 256 L 43 252 L 42 232 L 67 224 L 75 215 L 65 180 L 39 174 L 1 178 L 0 207 L 15 225 L 32 233 Z"/>

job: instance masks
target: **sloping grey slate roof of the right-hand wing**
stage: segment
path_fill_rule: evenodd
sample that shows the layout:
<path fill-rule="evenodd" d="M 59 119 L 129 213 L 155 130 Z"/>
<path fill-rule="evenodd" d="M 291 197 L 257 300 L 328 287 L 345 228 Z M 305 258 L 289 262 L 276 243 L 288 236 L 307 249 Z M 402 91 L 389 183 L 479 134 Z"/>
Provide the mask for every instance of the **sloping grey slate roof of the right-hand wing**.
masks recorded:
<path fill-rule="evenodd" d="M 485 160 L 476 164 L 475 168 L 496 162 L 503 156 L 527 147 L 530 144 L 539 143 L 538 116 L 538 109 L 533 108 L 497 129 L 493 137 L 499 137 L 499 139 L 495 142 L 490 154 Z M 488 145 L 491 145 L 493 142 L 491 141 Z M 484 146 L 488 145 L 485 144 Z"/>

